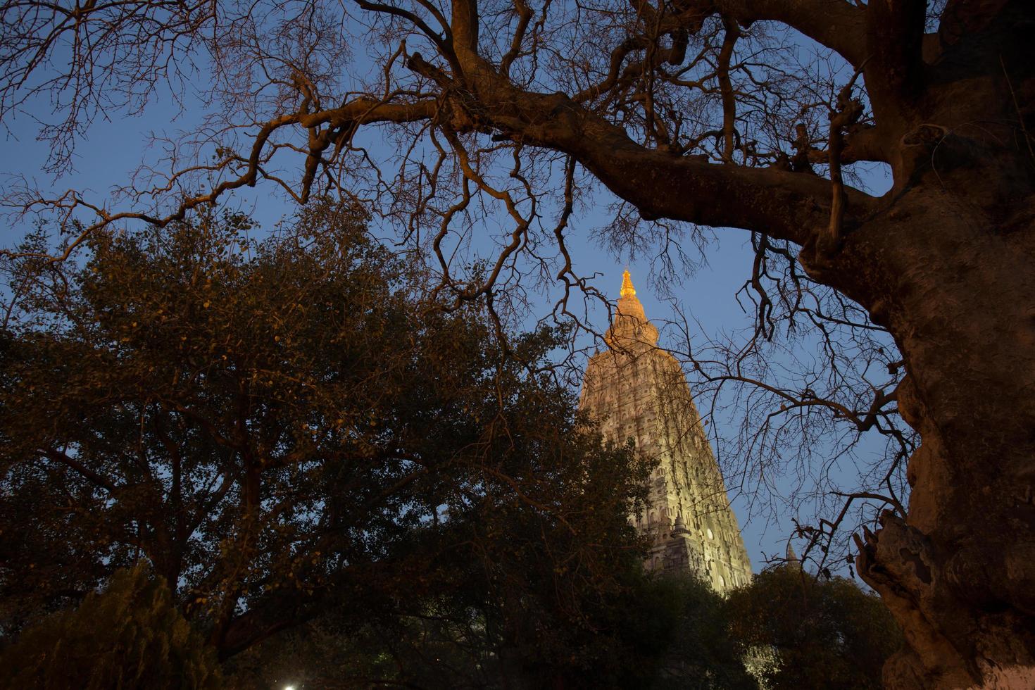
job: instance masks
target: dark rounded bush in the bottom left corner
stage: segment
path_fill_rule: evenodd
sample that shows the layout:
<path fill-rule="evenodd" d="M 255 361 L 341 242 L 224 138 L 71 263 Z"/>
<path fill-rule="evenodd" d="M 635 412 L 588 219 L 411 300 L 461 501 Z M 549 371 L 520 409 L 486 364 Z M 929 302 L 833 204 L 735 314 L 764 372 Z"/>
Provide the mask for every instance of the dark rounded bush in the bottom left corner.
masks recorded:
<path fill-rule="evenodd" d="M 79 608 L 26 629 L 0 654 L 0 686 L 39 690 L 223 687 L 214 652 L 144 565 L 119 570 Z"/>

